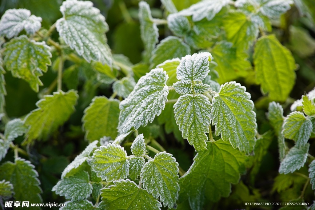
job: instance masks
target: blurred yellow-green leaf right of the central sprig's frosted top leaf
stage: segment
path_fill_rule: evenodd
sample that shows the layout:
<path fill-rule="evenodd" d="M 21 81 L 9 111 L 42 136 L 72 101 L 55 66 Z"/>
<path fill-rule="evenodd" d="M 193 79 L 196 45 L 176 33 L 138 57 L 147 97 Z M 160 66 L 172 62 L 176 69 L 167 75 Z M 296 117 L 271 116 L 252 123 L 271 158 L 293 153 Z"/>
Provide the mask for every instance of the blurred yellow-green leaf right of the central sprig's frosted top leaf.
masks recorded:
<path fill-rule="evenodd" d="M 218 64 L 215 70 L 219 73 L 218 82 L 224 83 L 245 77 L 247 70 L 251 69 L 248 55 L 232 46 L 229 42 L 216 43 L 211 50 L 214 61 Z"/>

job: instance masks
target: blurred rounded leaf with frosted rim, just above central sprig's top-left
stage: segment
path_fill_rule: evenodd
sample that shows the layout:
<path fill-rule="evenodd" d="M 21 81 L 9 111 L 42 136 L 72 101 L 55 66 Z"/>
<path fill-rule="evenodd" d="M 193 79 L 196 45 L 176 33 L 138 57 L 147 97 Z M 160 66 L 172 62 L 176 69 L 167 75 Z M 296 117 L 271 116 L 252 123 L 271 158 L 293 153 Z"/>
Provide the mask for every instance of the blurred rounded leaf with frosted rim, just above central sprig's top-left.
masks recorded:
<path fill-rule="evenodd" d="M 156 67 L 165 60 L 179 58 L 191 54 L 190 47 L 178 37 L 169 36 L 163 39 L 152 55 L 152 66 Z"/>

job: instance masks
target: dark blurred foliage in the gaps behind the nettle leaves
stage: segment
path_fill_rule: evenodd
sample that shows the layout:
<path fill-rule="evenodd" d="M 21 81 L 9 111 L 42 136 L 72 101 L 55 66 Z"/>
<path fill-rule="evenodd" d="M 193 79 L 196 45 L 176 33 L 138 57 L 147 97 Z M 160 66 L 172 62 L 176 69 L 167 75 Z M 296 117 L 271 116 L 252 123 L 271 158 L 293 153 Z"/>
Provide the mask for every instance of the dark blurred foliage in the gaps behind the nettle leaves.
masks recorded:
<path fill-rule="evenodd" d="M 138 20 L 138 3 L 137 0 L 91 0 L 94 6 L 100 9 L 101 13 L 106 17 L 109 25 L 109 32 L 106 33 L 108 44 L 113 54 L 124 54 L 134 65 L 133 71 L 135 79 L 139 79 L 142 75 L 149 71 L 149 66 L 141 61 L 141 53 L 144 50 L 143 43 L 140 38 L 140 24 Z M 315 86 L 315 3 L 313 0 L 296 0 L 296 4 L 301 2 L 307 5 L 306 8 L 292 6 L 292 8 L 281 16 L 279 21 L 272 22 L 272 33 L 276 34 L 278 40 L 294 55 L 295 62 L 298 65 L 296 71 L 296 82 L 290 94 L 290 97 L 283 102 L 284 115 L 289 111 L 289 105 L 296 99 L 312 90 Z M 154 18 L 167 17 L 160 0 L 148 0 L 152 9 Z M 198 0 L 173 0 L 178 10 L 184 9 L 198 2 Z M 7 9 L 26 8 L 32 14 L 43 18 L 42 26 L 46 29 L 62 15 L 59 11 L 61 0 L 2 0 L 0 3 L 0 16 Z M 301 16 L 301 13 L 304 14 Z M 167 26 L 159 27 L 159 40 L 169 36 L 171 32 Z M 57 31 L 54 31 L 52 37 L 58 39 Z M 193 52 L 192 52 L 193 53 Z M 249 50 L 249 58 L 252 57 L 253 49 Z M 40 87 L 39 93 L 34 92 L 29 84 L 24 80 L 14 78 L 10 73 L 5 74 L 6 80 L 6 112 L 9 118 L 25 116 L 36 108 L 36 102 L 45 94 L 49 85 L 52 84 L 57 77 L 56 55 L 52 58 L 54 62 L 49 66 L 49 70 L 45 73 L 41 80 L 44 86 Z M 70 66 L 67 61 L 65 68 Z M 91 99 L 96 95 L 112 95 L 110 85 L 99 84 L 95 80 L 93 71 L 89 71 L 89 65 L 77 66 L 77 70 L 69 71 L 68 77 L 74 80 L 69 82 L 66 80 L 65 87 L 68 89 L 77 88 L 79 91 L 79 101 L 76 106 L 76 112 L 71 116 L 70 120 L 58 132 L 54 133 L 46 141 L 38 141 L 35 145 L 27 148 L 29 153 L 28 159 L 36 166 L 43 189 L 44 202 L 64 202 L 63 197 L 56 196 L 51 192 L 51 188 L 60 179 L 63 169 L 71 162 L 77 154 L 79 154 L 88 144 L 84 140 L 84 132 L 82 131 L 83 110 L 90 104 Z M 65 70 L 66 71 L 66 70 Z M 73 74 L 71 74 L 73 73 Z M 66 77 L 64 75 L 64 77 Z M 252 81 L 252 77 L 240 78 L 237 80 L 247 88 L 251 94 L 251 99 L 255 103 L 257 124 L 259 133 L 265 133 L 272 130 L 269 122 L 266 120 L 266 111 L 270 100 L 261 94 L 260 86 Z M 167 109 L 167 107 L 166 107 Z M 163 116 L 163 112 L 162 112 Z M 166 126 L 160 126 L 159 121 L 163 119 L 156 118 L 151 124 L 145 128 L 140 128 L 139 132 L 144 136 L 150 137 L 148 144 L 160 149 L 167 150 L 173 154 L 179 162 L 183 170 L 188 170 L 192 164 L 194 149 L 188 142 L 181 138 L 176 123 L 169 120 Z M 161 123 L 161 122 L 160 122 Z M 1 128 L 3 129 L 3 128 Z M 213 129 L 214 130 L 214 129 Z M 209 203 L 206 209 L 237 209 L 245 208 L 244 201 L 289 201 L 298 199 L 305 180 L 301 180 L 300 176 L 295 174 L 278 175 L 278 147 L 277 139 L 272 132 L 267 133 L 269 137 L 265 138 L 264 148 L 261 151 L 255 151 L 260 155 L 256 159 L 252 159 L 253 166 L 249 162 L 248 172 L 241 177 L 239 184 L 232 185 L 232 194 L 229 198 L 221 199 L 219 203 Z M 23 141 L 23 137 L 15 140 L 16 144 Z M 158 142 L 156 144 L 155 142 Z M 315 153 L 314 137 L 309 140 L 311 144 L 309 153 Z M 287 141 L 290 144 L 290 141 Z M 293 145 L 293 142 L 291 142 Z M 163 148 L 159 148 L 162 145 Z M 292 146 L 290 145 L 290 146 Z M 125 147 L 128 150 L 128 146 Z M 260 147 L 261 148 L 261 147 Z M 13 161 L 13 151 L 9 150 L 9 154 L 3 161 Z M 301 168 L 300 173 L 304 173 Z M 306 171 L 307 173 L 307 171 Z M 304 198 L 311 202 L 314 200 L 314 193 L 311 186 L 308 185 Z M 179 205 L 179 209 L 189 207 L 187 203 Z M 218 208 L 221 207 L 221 208 Z M 52 208 L 53 209 L 53 208 Z M 255 209 L 255 208 L 252 208 Z M 269 207 L 266 209 L 275 209 Z"/>

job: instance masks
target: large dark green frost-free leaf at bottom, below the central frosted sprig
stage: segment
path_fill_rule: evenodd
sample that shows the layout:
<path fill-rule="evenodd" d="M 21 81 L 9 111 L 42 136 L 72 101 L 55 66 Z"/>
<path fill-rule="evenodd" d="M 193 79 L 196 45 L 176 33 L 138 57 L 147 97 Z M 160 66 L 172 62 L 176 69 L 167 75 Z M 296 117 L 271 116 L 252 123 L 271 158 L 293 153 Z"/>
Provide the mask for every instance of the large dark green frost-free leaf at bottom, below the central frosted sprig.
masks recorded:
<path fill-rule="evenodd" d="M 180 178 L 180 201 L 188 198 L 191 209 L 202 209 L 205 199 L 218 201 L 231 193 L 240 173 L 245 172 L 247 157 L 228 142 L 207 142 L 207 150 L 199 151 L 188 172 Z"/>

